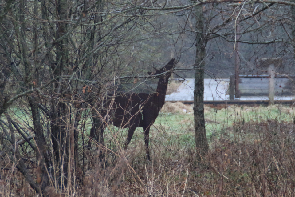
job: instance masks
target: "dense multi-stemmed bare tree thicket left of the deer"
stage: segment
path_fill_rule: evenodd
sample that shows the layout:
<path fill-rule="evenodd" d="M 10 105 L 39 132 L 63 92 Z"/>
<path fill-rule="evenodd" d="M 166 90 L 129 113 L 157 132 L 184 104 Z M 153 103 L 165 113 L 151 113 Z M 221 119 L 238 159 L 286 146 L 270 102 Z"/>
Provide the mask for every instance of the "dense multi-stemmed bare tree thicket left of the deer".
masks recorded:
<path fill-rule="evenodd" d="M 110 82 L 118 73 L 138 75 L 128 67 L 132 58 L 126 50 L 149 16 L 137 16 L 145 10 L 126 3 L 1 2 L 0 128 L 6 135 L 1 155 L 38 192 L 52 185 L 56 173 L 61 188 L 77 181 L 85 145 L 79 146 L 79 136 L 88 136 L 87 119 L 95 114 L 98 95 L 114 86 Z M 18 119 L 20 112 L 24 118 Z M 18 150 L 21 143 L 27 143 L 29 155 Z M 36 182 L 24 164 L 34 154 Z"/>

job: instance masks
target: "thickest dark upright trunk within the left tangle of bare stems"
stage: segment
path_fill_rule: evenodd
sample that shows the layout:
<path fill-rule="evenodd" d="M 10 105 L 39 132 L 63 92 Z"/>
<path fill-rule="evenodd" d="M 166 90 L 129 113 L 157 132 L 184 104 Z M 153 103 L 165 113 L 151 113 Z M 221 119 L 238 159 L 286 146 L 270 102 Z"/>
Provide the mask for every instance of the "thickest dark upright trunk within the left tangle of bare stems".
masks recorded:
<path fill-rule="evenodd" d="M 53 77 L 57 78 L 64 74 L 69 74 L 71 64 L 69 63 L 69 39 L 65 34 L 68 32 L 68 23 L 63 20 L 68 19 L 68 4 L 66 0 L 57 1 L 57 14 L 59 22 L 57 22 L 56 40 L 56 60 L 52 63 Z M 70 84 L 63 83 L 60 80 L 55 81 L 53 94 L 59 94 L 61 100 L 67 100 L 65 95 L 66 89 Z M 71 146 L 71 125 L 69 125 L 70 107 L 65 102 L 53 101 L 51 106 L 51 137 L 53 149 L 55 152 L 56 162 L 59 165 L 59 182 L 61 186 L 67 187 L 71 170 L 69 166 L 69 154 Z"/>

